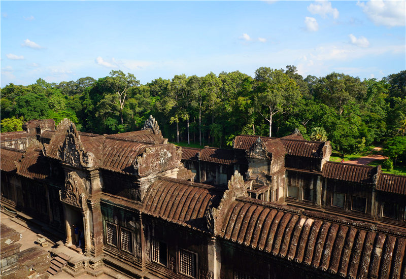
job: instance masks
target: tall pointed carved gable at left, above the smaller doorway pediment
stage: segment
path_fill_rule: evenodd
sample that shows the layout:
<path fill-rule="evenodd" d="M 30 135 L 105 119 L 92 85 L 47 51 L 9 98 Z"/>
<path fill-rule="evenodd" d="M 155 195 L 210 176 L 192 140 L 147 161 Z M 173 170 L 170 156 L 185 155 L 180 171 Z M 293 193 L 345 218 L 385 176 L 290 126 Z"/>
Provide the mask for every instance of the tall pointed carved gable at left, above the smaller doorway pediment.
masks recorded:
<path fill-rule="evenodd" d="M 73 166 L 92 167 L 95 157 L 91 152 L 84 150 L 75 123 L 65 118 L 56 129 L 66 130 L 65 140 L 58 149 L 58 158 Z"/>

